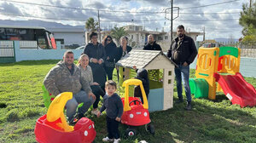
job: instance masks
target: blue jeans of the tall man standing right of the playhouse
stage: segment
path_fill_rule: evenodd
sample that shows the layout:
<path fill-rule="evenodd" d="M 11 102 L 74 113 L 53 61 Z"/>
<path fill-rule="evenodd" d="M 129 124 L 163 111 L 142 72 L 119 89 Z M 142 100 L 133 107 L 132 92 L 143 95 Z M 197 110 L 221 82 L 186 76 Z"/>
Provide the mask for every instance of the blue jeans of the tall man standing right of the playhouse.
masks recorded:
<path fill-rule="evenodd" d="M 182 77 L 183 77 L 183 85 L 182 85 Z M 183 86 L 184 86 L 187 101 L 191 102 L 191 93 L 190 93 L 190 87 L 189 87 L 189 66 L 178 65 L 178 67 L 175 67 L 175 79 L 177 82 L 178 100 L 183 100 Z"/>

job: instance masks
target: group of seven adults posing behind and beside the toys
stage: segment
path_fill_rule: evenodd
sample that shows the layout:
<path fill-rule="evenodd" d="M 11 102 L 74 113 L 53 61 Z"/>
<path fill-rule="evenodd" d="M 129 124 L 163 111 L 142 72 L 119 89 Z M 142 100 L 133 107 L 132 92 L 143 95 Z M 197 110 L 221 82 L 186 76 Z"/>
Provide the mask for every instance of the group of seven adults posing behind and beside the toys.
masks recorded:
<path fill-rule="evenodd" d="M 177 80 L 177 103 L 183 102 L 182 77 L 187 96 L 187 110 L 191 110 L 191 95 L 189 89 L 189 64 L 193 62 L 197 54 L 195 43 L 191 37 L 186 36 L 183 26 L 177 26 L 177 38 L 172 41 L 167 56 L 176 63 L 175 74 Z M 111 36 L 103 38 L 102 43 L 97 41 L 98 35 L 90 33 L 90 43 L 85 46 L 83 54 L 79 58 L 78 66 L 74 65 L 74 54 L 67 50 L 63 60 L 57 63 L 44 78 L 44 86 L 53 95 L 62 92 L 73 92 L 73 99 L 66 104 L 67 117 L 70 123 L 74 117 L 84 117 L 93 104 L 92 113 L 96 113 L 100 96 L 105 94 L 105 82 L 113 78 L 115 63 L 125 54 L 131 51 L 128 46 L 128 38 L 120 38 L 120 46 L 113 43 Z M 162 50 L 160 45 L 154 41 L 153 35 L 148 35 L 148 43 L 144 50 Z M 79 103 L 84 103 L 76 109 Z"/>

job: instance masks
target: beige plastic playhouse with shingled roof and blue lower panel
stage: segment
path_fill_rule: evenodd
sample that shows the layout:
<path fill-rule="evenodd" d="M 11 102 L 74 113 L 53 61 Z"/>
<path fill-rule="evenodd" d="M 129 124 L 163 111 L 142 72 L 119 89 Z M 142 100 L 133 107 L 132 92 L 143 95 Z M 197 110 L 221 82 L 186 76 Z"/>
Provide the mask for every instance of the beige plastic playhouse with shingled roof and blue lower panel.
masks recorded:
<path fill-rule="evenodd" d="M 148 111 L 163 111 L 173 106 L 174 64 L 166 54 L 154 50 L 132 49 L 116 63 L 119 66 L 119 86 L 127 79 L 136 77 L 132 68 L 144 68 L 148 72 Z M 129 92 L 132 94 L 133 89 Z"/>

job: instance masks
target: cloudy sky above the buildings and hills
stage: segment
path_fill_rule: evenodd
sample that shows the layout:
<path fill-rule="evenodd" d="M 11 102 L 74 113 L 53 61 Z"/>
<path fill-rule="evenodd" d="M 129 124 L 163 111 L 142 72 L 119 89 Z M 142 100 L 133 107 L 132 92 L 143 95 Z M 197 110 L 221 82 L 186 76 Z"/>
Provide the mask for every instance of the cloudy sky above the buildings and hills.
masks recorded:
<path fill-rule="evenodd" d="M 239 38 L 242 3 L 249 0 L 174 0 L 173 29 L 203 31 L 206 38 Z M 141 25 L 148 31 L 170 31 L 170 0 L 0 0 L 0 20 L 45 20 L 82 26 L 98 10 L 101 27 Z M 167 14 L 166 14 L 167 12 Z M 1 23 L 0 23 L 1 25 Z M 201 40 L 199 37 L 198 40 Z"/>

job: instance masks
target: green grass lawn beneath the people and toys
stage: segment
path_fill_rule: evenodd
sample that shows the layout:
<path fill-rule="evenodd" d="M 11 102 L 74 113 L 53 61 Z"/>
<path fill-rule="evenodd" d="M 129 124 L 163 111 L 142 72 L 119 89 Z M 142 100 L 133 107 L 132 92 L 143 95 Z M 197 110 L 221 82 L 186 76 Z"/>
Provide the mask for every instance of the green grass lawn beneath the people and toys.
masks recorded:
<path fill-rule="evenodd" d="M 36 120 L 47 112 L 41 87 L 45 75 L 57 62 L 39 60 L 0 64 L 0 143 L 36 142 Z M 190 72 L 194 77 L 195 70 Z M 245 79 L 256 87 L 256 78 Z M 174 100 L 177 100 L 176 88 L 174 91 Z M 124 135 L 126 126 L 121 124 L 121 142 L 256 142 L 256 107 L 233 106 L 221 93 L 217 94 L 217 100 L 193 98 L 192 105 L 191 112 L 183 109 L 183 103 L 167 111 L 150 113 L 154 136 L 144 127 L 138 127 L 137 136 L 127 139 Z M 96 142 L 102 142 L 107 135 L 105 115 L 96 118 L 89 113 L 87 117 L 96 124 Z"/>

